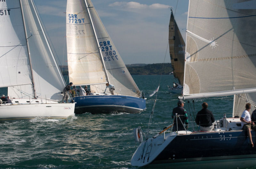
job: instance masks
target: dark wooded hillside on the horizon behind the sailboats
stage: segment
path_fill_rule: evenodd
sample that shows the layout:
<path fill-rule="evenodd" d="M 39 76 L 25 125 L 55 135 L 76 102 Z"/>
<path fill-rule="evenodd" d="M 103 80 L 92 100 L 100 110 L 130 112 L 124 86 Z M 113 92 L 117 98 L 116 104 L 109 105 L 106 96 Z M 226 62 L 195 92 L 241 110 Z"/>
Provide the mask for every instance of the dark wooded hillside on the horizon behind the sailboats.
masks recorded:
<path fill-rule="evenodd" d="M 164 65 L 164 69 L 163 69 Z M 128 64 L 126 65 L 131 75 L 169 75 L 172 72 L 171 63 L 154 64 Z M 63 75 L 68 75 L 68 66 L 60 66 Z"/>

